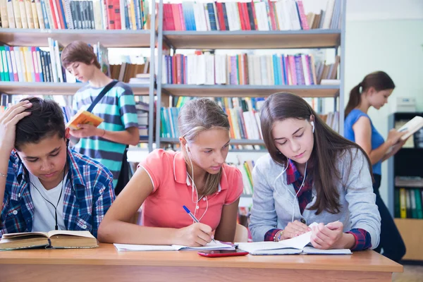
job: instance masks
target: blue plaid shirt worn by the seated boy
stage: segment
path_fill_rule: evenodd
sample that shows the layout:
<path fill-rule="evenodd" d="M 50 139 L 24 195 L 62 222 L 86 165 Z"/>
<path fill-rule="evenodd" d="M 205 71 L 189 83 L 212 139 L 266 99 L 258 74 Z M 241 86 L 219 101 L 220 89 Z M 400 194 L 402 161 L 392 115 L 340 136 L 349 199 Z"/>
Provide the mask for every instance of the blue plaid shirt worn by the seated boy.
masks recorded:
<path fill-rule="evenodd" d="M 99 224 L 114 201 L 111 172 L 88 157 L 68 149 L 68 177 L 64 188 L 63 219 L 71 231 L 90 231 L 97 238 Z M 9 159 L 0 234 L 30 232 L 34 216 L 29 175 L 13 150 Z"/>

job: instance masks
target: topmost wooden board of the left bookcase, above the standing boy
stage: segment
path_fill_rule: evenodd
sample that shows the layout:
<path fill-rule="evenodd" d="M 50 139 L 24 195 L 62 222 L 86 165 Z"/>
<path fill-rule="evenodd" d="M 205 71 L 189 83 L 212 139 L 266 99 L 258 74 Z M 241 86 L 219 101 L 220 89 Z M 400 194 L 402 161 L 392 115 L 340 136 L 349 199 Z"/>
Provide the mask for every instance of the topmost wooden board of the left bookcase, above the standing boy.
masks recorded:
<path fill-rule="evenodd" d="M 149 30 L 32 30 L 0 28 L 0 42 L 11 46 L 48 47 L 47 38 L 66 46 L 81 40 L 90 44 L 100 42 L 104 47 L 149 47 Z"/>

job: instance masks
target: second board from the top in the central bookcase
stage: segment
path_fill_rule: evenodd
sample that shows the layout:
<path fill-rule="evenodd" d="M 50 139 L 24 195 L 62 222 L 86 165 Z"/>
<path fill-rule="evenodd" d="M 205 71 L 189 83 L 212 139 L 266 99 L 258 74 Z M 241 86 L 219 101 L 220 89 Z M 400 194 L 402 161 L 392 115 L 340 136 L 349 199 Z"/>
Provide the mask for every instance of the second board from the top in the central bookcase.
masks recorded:
<path fill-rule="evenodd" d="M 339 85 L 171 85 L 162 88 L 174 96 L 189 97 L 267 97 L 291 92 L 300 97 L 336 97 Z"/>

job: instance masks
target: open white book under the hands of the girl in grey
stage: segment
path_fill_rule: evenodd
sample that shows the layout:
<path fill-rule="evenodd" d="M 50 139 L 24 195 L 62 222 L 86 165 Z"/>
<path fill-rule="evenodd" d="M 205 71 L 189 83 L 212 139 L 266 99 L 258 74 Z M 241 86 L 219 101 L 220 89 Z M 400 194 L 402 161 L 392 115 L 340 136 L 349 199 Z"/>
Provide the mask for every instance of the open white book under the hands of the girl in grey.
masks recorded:
<path fill-rule="evenodd" d="M 309 226 L 315 226 L 312 223 Z M 312 231 L 294 238 L 279 242 L 238 243 L 238 249 L 250 252 L 251 255 L 295 255 L 295 254 L 322 254 L 322 255 L 350 255 L 349 249 L 319 250 L 311 247 Z"/>

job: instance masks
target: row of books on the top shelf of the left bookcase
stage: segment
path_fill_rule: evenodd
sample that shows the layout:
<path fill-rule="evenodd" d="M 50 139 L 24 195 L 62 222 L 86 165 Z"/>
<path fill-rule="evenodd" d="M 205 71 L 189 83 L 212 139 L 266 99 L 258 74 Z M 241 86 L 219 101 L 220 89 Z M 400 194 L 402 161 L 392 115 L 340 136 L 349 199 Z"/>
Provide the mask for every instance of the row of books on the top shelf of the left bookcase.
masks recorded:
<path fill-rule="evenodd" d="M 148 0 L 0 0 L 3 28 L 143 30 Z"/>

